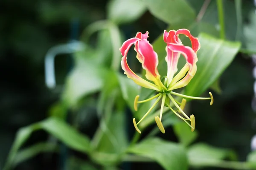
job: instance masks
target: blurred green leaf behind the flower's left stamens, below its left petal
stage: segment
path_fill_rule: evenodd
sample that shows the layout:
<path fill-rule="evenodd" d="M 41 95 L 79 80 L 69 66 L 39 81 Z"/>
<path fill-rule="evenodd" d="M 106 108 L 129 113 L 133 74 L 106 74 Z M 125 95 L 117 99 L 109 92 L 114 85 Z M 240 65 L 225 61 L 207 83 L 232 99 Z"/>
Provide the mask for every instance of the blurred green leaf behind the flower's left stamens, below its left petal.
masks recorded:
<path fill-rule="evenodd" d="M 128 79 L 125 75 L 118 75 L 119 85 L 122 91 L 122 96 L 128 103 L 130 109 L 134 111 L 134 99 L 139 93 L 139 85 L 132 79 Z"/>

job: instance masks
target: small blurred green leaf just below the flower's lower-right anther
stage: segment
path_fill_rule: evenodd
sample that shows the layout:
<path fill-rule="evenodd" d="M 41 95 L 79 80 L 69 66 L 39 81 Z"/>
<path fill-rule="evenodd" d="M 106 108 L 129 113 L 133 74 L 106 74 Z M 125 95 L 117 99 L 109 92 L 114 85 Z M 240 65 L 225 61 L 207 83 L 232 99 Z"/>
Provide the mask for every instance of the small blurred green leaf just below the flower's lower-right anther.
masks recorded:
<path fill-rule="evenodd" d="M 191 127 L 189 127 L 185 122 L 175 124 L 174 132 L 180 143 L 182 143 L 184 146 L 188 146 L 194 142 L 198 136 L 197 131 L 195 130 L 194 132 L 191 132 Z"/>

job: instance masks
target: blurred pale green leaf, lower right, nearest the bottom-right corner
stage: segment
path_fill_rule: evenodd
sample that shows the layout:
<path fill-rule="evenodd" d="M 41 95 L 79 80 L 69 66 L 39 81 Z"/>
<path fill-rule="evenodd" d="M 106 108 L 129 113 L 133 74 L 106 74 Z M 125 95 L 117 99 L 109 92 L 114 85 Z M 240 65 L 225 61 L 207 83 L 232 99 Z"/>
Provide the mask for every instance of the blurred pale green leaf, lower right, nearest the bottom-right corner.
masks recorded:
<path fill-rule="evenodd" d="M 232 157 L 234 153 L 231 150 L 212 147 L 204 143 L 194 144 L 188 150 L 189 163 L 193 166 L 204 166 L 206 162 L 218 164 L 220 160 Z"/>

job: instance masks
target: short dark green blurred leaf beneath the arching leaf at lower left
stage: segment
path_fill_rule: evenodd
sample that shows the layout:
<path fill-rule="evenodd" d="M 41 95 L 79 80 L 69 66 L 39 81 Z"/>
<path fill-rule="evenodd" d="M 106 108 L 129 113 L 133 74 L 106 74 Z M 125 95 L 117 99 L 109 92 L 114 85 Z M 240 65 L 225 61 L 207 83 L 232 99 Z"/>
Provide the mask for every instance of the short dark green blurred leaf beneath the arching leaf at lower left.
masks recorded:
<path fill-rule="evenodd" d="M 30 147 L 27 147 L 26 149 L 20 150 L 17 153 L 15 160 L 13 162 L 14 164 L 13 166 L 15 167 L 17 164 L 23 161 L 26 161 L 41 152 L 56 152 L 56 151 L 57 151 L 56 144 L 52 144 L 52 143 L 34 144 Z"/>

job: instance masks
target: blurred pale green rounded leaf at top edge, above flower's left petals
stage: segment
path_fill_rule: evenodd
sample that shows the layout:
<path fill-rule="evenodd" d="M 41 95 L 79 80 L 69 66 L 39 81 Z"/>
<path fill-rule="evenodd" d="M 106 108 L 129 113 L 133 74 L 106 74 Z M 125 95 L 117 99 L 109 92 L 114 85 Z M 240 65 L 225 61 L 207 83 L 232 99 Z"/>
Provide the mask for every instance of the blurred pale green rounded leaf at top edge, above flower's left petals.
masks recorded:
<path fill-rule="evenodd" d="M 116 24 L 130 23 L 146 11 L 140 0 L 110 0 L 107 6 L 108 19 Z"/>

